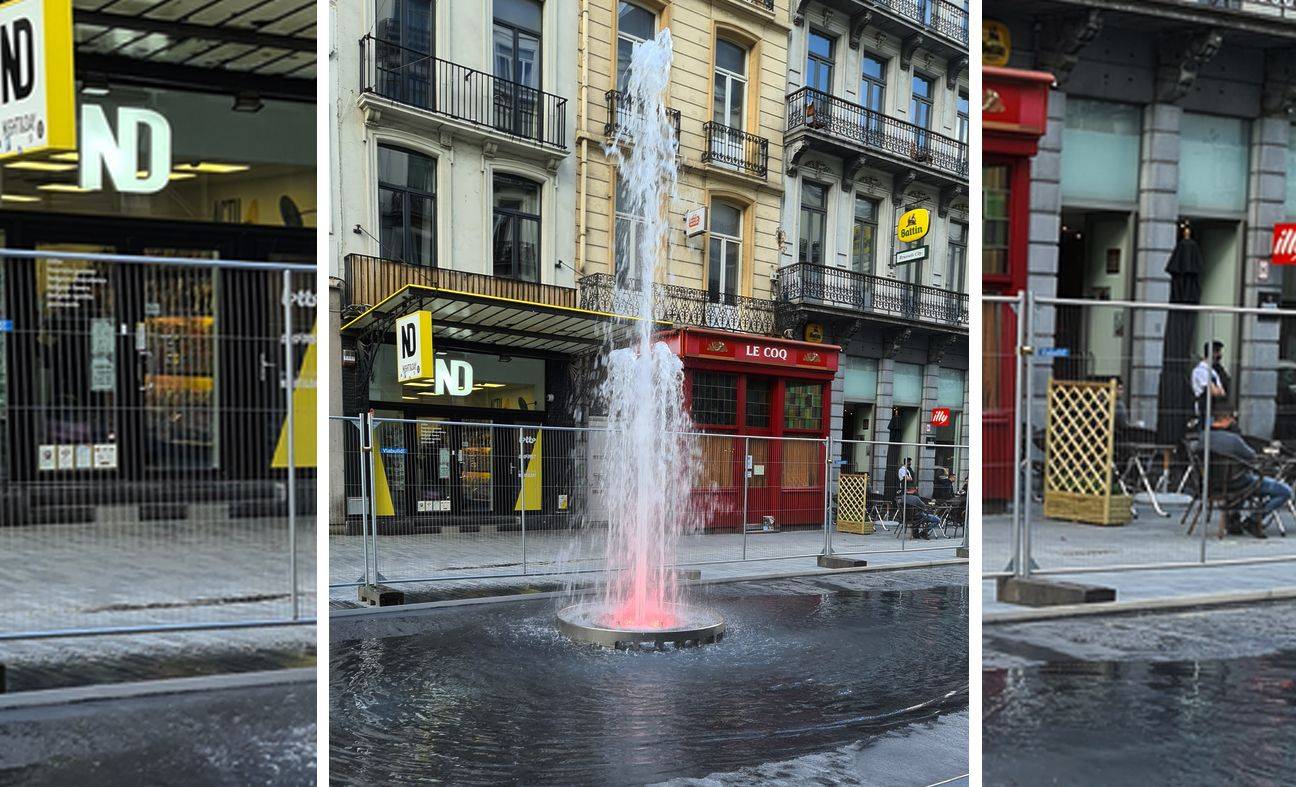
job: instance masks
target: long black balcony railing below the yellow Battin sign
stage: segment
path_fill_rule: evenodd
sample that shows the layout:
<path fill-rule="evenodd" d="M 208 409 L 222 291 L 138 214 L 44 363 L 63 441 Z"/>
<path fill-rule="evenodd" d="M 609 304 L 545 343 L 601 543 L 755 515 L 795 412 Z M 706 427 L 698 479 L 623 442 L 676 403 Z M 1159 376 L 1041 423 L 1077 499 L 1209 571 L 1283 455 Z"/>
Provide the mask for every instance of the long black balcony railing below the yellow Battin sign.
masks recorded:
<path fill-rule="evenodd" d="M 968 327 L 966 293 L 809 262 L 779 270 L 779 301 Z"/>

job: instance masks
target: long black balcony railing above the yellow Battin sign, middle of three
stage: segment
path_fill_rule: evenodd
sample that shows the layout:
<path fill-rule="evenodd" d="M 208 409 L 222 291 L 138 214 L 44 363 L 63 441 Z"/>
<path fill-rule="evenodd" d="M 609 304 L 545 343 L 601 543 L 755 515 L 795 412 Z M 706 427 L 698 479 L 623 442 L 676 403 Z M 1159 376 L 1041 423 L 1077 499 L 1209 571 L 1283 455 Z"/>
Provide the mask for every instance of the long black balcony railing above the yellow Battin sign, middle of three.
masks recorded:
<path fill-rule="evenodd" d="M 968 147 L 956 139 L 897 121 L 811 87 L 788 96 L 788 134 L 793 131 L 824 134 L 864 148 L 885 150 L 959 179 L 968 176 Z"/>

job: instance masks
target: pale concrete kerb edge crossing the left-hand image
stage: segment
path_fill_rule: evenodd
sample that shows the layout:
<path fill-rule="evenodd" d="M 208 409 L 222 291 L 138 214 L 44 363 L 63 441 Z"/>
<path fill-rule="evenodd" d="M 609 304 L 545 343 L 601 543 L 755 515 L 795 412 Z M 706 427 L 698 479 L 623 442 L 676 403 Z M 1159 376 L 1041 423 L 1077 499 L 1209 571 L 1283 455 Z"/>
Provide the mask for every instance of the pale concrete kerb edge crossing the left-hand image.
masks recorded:
<path fill-rule="evenodd" d="M 0 694 L 0 712 L 71 705 L 76 703 L 137 699 L 145 696 L 193 694 L 202 691 L 314 683 L 316 679 L 316 668 L 297 666 L 290 669 L 200 675 L 194 678 L 163 678 L 161 681 L 133 681 L 128 683 L 71 686 L 67 688 L 40 688 L 36 691 Z"/>

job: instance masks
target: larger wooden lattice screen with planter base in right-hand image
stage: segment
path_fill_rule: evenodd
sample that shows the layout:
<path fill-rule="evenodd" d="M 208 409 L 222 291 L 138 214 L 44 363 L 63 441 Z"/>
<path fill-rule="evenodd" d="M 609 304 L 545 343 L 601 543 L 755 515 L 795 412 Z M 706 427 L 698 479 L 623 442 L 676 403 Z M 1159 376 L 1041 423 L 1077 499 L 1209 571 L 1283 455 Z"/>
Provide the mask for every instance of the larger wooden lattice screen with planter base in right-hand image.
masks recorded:
<path fill-rule="evenodd" d="M 1045 516 L 1095 525 L 1130 520 L 1130 498 L 1115 494 L 1116 381 L 1048 381 Z"/>

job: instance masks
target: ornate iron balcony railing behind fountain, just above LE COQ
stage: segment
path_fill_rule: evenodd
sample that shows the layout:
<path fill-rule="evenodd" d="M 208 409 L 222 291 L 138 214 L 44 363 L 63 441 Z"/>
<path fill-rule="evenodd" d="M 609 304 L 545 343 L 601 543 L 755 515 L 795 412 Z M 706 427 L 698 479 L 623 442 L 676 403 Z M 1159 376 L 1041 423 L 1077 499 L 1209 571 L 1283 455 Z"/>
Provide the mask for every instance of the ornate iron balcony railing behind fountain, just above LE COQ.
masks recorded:
<path fill-rule="evenodd" d="M 581 309 L 609 314 L 638 315 L 640 296 L 636 290 L 617 289 L 610 274 L 588 274 L 581 277 Z M 741 333 L 774 335 L 775 303 L 744 296 L 712 298 L 704 289 L 675 284 L 653 285 L 653 319 L 677 325 L 696 325 Z"/>

